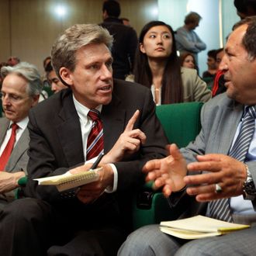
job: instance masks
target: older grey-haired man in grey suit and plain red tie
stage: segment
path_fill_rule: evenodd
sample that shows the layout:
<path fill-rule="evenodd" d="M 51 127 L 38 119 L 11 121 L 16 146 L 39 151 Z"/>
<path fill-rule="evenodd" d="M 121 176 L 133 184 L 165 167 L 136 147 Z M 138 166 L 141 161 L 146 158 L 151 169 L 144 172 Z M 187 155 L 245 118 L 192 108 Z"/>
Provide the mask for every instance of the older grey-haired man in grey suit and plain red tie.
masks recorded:
<path fill-rule="evenodd" d="M 1 99 L 5 117 L 0 119 L 0 209 L 14 199 L 19 178 L 29 161 L 29 109 L 36 105 L 42 88 L 39 71 L 20 62 L 2 67 Z"/>

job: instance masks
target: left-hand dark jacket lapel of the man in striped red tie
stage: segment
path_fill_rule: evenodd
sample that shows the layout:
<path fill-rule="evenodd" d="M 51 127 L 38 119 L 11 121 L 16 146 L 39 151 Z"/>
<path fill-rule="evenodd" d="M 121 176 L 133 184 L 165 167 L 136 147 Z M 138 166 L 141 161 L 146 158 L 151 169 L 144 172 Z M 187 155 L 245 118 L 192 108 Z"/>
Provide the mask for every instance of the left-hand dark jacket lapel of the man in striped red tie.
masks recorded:
<path fill-rule="evenodd" d="M 74 166 L 85 161 L 81 139 L 81 126 L 78 113 L 74 108 L 72 93 L 63 100 L 63 108 L 59 112 L 60 120 L 55 129 L 64 151 L 68 165 Z"/>

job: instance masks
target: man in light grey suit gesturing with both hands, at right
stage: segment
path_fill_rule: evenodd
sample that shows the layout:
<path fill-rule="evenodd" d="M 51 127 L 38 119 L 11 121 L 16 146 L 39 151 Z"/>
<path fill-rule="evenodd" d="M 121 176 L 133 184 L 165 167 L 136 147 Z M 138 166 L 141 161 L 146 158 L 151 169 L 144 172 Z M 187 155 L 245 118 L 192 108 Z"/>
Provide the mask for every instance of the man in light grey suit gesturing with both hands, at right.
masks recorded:
<path fill-rule="evenodd" d="M 227 92 L 202 107 L 202 130 L 180 151 L 147 162 L 144 172 L 180 218 L 197 214 L 251 225 L 219 237 L 181 240 L 159 225 L 136 230 L 119 256 L 254 255 L 256 250 L 256 17 L 234 26 L 220 64 Z M 187 206 L 187 207 L 184 207 Z"/>

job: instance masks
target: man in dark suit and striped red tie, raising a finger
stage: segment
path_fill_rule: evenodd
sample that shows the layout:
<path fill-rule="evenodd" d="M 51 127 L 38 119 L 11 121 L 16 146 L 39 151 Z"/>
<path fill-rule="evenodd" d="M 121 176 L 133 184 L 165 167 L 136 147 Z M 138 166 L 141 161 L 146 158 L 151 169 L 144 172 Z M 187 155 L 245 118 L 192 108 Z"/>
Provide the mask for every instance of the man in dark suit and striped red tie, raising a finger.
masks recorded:
<path fill-rule="evenodd" d="M 125 240 L 142 168 L 164 157 L 167 139 L 150 90 L 112 79 L 112 40 L 79 24 L 54 43 L 54 70 L 69 88 L 29 112 L 29 198 L 0 214 L 3 255 L 116 255 Z M 97 182 L 58 192 L 33 180 L 87 171 L 100 152 Z"/>

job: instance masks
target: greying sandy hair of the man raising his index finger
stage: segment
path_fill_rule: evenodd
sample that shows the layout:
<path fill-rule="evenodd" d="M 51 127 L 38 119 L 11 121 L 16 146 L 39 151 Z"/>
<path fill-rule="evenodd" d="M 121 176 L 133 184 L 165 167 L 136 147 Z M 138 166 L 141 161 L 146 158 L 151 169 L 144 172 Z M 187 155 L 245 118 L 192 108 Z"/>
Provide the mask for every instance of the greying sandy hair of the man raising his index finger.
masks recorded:
<path fill-rule="evenodd" d="M 57 38 L 51 50 L 52 64 L 57 76 L 61 78 L 61 67 L 74 71 L 76 52 L 81 47 L 90 43 L 104 43 L 111 50 L 112 42 L 109 31 L 97 24 L 76 24 L 66 29 L 64 34 Z"/>

